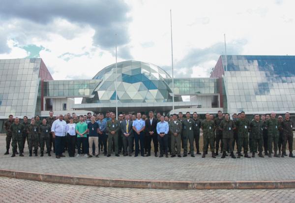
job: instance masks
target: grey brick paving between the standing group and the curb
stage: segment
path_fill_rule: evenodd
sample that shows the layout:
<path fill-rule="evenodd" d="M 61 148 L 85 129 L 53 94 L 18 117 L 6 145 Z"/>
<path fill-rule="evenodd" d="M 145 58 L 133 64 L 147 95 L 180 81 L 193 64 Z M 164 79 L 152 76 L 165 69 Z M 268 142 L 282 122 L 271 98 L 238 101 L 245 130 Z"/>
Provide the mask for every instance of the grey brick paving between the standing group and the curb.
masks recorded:
<path fill-rule="evenodd" d="M 180 180 L 180 181 L 242 181 L 295 180 L 295 158 L 213 159 L 208 154 L 182 158 L 111 157 L 100 158 L 55 156 L 29 157 L 27 144 L 24 157 L 10 157 L 5 152 L 5 136 L 0 136 L 0 169 L 35 173 L 86 175 L 102 178 Z M 10 149 L 11 152 L 11 149 Z"/>

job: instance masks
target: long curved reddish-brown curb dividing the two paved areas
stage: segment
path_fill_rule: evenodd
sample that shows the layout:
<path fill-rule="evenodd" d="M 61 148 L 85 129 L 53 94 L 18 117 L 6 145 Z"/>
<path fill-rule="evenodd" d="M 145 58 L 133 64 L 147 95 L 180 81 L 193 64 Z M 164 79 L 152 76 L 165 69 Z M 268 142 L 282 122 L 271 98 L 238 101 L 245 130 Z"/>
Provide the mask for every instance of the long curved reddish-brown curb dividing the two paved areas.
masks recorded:
<path fill-rule="evenodd" d="M 97 187 L 124 187 L 142 189 L 283 189 L 295 188 L 295 180 L 278 181 L 161 181 L 107 179 L 89 176 L 42 174 L 14 170 L 0 170 L 0 176 Z"/>

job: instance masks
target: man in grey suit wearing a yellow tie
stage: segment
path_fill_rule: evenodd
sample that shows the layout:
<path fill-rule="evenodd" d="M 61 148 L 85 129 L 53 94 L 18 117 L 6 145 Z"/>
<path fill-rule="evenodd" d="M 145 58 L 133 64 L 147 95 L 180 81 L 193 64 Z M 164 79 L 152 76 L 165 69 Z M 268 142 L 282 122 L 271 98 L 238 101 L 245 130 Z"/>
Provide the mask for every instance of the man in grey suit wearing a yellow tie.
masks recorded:
<path fill-rule="evenodd" d="M 133 129 L 132 129 L 132 120 L 129 120 L 129 115 L 125 115 L 125 120 L 121 122 L 121 133 L 122 133 L 122 142 L 123 142 L 123 151 L 124 155 L 131 156 L 132 146 L 133 146 Z"/>

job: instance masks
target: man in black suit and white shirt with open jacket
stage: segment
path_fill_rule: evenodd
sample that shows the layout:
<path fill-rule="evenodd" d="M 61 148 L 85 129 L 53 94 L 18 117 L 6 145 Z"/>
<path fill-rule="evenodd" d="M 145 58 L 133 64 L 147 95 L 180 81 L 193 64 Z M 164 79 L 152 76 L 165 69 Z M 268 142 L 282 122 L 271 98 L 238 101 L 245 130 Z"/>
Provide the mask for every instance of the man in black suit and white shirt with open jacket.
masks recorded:
<path fill-rule="evenodd" d="M 158 151 L 158 135 L 157 135 L 157 119 L 154 118 L 153 112 L 150 111 L 148 112 L 149 118 L 146 119 L 146 136 L 145 136 L 145 144 L 146 144 L 146 149 L 148 149 L 148 154 L 147 156 L 150 156 L 150 149 L 151 149 L 151 140 L 154 145 L 154 151 L 155 151 L 155 156 L 157 157 L 157 151 Z"/>

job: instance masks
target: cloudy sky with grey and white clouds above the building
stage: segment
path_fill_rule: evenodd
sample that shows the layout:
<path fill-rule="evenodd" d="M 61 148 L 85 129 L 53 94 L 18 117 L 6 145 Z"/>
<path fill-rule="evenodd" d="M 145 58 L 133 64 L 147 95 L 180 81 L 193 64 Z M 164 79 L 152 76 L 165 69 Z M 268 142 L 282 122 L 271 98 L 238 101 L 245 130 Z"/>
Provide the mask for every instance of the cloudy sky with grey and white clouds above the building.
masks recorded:
<path fill-rule="evenodd" d="M 1 0 L 0 58 L 41 57 L 55 80 L 90 79 L 118 61 L 208 77 L 224 53 L 295 55 L 294 0 Z"/>

